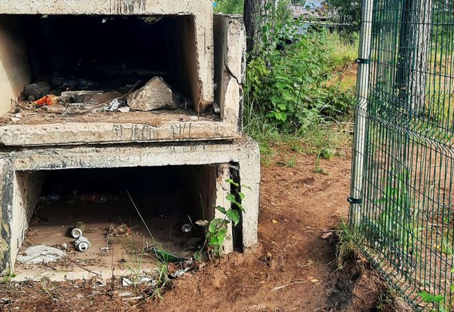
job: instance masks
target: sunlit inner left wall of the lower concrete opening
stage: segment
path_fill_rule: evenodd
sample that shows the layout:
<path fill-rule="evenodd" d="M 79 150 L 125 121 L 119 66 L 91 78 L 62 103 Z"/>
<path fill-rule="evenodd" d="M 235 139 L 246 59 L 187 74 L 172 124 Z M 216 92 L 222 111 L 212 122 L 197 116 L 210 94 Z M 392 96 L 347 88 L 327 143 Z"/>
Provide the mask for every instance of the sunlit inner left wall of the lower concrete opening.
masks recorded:
<path fill-rule="evenodd" d="M 22 246 L 28 223 L 32 218 L 43 186 L 43 171 L 16 171 L 14 175 L 13 209 L 11 218 L 11 262 L 16 262 L 17 251 Z"/>

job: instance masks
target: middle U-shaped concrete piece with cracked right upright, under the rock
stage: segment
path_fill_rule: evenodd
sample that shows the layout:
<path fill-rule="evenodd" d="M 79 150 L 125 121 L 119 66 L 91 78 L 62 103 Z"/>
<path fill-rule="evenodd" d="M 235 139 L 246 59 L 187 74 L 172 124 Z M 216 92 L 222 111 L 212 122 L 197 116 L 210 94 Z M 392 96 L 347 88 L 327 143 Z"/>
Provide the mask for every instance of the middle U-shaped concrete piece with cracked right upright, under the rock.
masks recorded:
<path fill-rule="evenodd" d="M 6 10 L 6 3 L 0 3 L 0 12 Z M 10 16 L 6 21 L 3 17 L 0 19 L 0 62 L 3 65 L 0 66 L 0 83 L 2 90 L 6 91 L 0 94 L 0 116 L 10 109 L 11 99 L 20 94 L 24 83 L 30 81 L 28 63 L 24 61 L 27 60 L 26 53 L 21 48 L 23 38 L 17 34 L 20 28 L 18 30 L 17 23 L 14 21 L 16 21 L 14 17 Z M 3 25 L 2 28 L 2 23 L 10 27 Z M 210 29 L 208 28 L 211 27 L 210 25 L 211 22 L 207 22 L 205 26 Z M 213 114 L 198 116 L 179 111 L 168 114 L 136 112 L 133 117 L 116 113 L 102 116 L 102 122 L 94 123 L 85 116 L 52 116 L 52 119 L 47 121 L 46 115 L 38 114 L 16 123 L 10 122 L 9 118 L 8 121 L 0 122 L 0 145 L 200 141 L 207 138 L 217 140 L 239 137 L 243 123 L 245 29 L 240 17 L 222 15 L 215 16 L 214 26 L 214 34 L 216 34 L 214 81 L 217 86 L 214 99 L 220 107 L 218 116 Z M 209 38 L 207 41 L 209 44 L 212 39 L 211 32 L 207 31 L 206 36 Z M 205 42 L 205 39 L 203 41 Z M 207 53 L 213 52 L 209 46 L 206 50 Z M 211 64 L 208 56 L 204 58 L 208 64 Z M 205 79 L 200 80 L 199 77 L 195 81 L 201 81 L 201 83 L 207 81 L 203 85 L 209 85 L 213 90 L 212 74 L 208 74 L 208 72 L 211 73 L 212 67 L 211 65 L 208 67 L 204 65 L 198 70 L 199 73 L 205 72 L 203 74 Z"/>

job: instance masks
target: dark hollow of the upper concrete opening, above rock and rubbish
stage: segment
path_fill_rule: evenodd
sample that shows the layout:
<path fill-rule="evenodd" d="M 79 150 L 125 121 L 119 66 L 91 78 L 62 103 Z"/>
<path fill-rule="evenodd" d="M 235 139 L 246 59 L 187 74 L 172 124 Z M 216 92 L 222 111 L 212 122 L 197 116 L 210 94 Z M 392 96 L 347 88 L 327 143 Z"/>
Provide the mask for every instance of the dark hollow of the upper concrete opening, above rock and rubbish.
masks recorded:
<path fill-rule="evenodd" d="M 127 93 L 155 76 L 199 112 L 194 17 L 0 15 L 0 116 L 26 85 Z M 4 77 L 3 77 L 4 75 Z M 116 117 L 118 118 L 118 116 Z"/>

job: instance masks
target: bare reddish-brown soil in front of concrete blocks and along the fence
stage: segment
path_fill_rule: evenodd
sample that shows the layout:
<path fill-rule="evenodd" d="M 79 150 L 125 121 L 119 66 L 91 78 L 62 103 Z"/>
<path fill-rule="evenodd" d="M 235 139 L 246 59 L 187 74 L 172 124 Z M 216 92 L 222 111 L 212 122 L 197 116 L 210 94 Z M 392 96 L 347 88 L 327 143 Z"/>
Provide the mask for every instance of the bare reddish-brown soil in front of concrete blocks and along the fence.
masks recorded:
<path fill-rule="evenodd" d="M 345 154 L 350 154 L 349 151 Z M 278 154 L 279 155 L 279 154 Z M 162 300 L 147 289 L 84 282 L 0 285 L 2 311 L 396 311 L 382 280 L 361 259 L 336 263 L 333 229 L 347 217 L 349 156 L 280 156 L 262 168 L 258 247 L 232 253 L 172 282 Z M 285 163 L 285 162 L 284 162 Z M 101 285 L 100 285 L 101 284 Z M 131 292 L 125 295 L 125 292 Z M 399 311 L 402 311 L 399 309 Z"/>

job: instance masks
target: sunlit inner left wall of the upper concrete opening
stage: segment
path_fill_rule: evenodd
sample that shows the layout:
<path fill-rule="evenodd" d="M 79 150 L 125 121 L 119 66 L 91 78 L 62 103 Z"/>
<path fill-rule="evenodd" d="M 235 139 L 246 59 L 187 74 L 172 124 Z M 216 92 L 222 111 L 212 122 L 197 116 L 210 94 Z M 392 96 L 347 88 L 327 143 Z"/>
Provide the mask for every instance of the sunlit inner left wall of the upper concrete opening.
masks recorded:
<path fill-rule="evenodd" d="M 21 21 L 21 18 L 0 18 L 0 116 L 11 109 L 11 100 L 15 101 L 23 86 L 30 83 Z"/>

